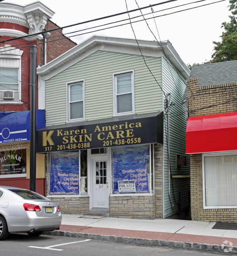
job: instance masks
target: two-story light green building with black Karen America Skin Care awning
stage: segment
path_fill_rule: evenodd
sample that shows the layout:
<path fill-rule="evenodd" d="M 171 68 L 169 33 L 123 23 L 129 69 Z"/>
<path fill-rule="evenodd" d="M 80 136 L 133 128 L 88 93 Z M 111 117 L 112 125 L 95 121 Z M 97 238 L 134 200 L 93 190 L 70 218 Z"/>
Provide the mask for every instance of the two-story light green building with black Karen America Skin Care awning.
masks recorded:
<path fill-rule="evenodd" d="M 169 41 L 103 36 L 37 69 L 46 111 L 37 152 L 46 155 L 46 195 L 63 213 L 188 216 L 189 73 Z"/>

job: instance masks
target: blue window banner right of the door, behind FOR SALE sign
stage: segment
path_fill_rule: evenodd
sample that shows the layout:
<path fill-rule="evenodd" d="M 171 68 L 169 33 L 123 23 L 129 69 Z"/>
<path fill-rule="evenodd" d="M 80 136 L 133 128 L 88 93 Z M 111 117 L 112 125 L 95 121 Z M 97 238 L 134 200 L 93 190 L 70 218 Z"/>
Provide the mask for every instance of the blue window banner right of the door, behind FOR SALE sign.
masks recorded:
<path fill-rule="evenodd" d="M 119 181 L 135 181 L 136 193 L 149 192 L 149 145 L 112 148 L 112 164 L 113 194 L 119 193 Z"/>

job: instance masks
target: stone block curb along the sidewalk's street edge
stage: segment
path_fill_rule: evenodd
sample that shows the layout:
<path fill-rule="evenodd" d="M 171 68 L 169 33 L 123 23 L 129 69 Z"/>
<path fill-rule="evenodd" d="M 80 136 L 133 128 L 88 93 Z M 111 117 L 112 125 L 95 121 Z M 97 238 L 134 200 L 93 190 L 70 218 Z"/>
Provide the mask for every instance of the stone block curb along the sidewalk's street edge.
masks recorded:
<path fill-rule="evenodd" d="M 95 239 L 103 241 L 112 241 L 117 243 L 130 243 L 137 245 L 150 245 L 150 246 L 169 246 L 176 248 L 186 248 L 186 249 L 201 249 L 210 250 L 214 252 L 222 253 L 237 253 L 237 246 L 227 246 L 227 245 L 216 245 L 216 244 L 202 244 L 202 243 L 189 243 L 189 242 L 178 242 L 178 241 L 168 241 L 168 240 L 158 240 L 158 239 L 143 239 L 134 238 L 126 236 L 108 236 L 108 235 L 98 235 L 82 232 L 69 232 L 69 231 L 45 231 L 44 235 L 49 236 L 66 236 L 66 237 L 79 237 L 84 239 Z"/>

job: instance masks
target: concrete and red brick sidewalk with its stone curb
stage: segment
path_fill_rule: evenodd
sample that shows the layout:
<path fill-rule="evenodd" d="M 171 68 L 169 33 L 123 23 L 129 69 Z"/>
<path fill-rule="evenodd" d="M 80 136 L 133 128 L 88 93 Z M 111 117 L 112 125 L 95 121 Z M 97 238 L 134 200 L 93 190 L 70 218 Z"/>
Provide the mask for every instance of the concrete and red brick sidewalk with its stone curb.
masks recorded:
<path fill-rule="evenodd" d="M 93 218 L 93 219 L 92 219 Z M 94 219 L 99 218 L 99 219 Z M 100 239 L 117 243 L 174 246 L 237 253 L 237 230 L 212 229 L 216 222 L 176 219 L 122 219 L 65 215 L 53 236 Z"/>

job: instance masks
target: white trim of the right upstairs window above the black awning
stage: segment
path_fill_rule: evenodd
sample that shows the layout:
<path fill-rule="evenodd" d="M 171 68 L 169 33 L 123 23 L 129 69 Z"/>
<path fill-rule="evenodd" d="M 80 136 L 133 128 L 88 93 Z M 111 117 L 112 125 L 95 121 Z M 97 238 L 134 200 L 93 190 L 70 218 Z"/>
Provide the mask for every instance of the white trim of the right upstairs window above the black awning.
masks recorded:
<path fill-rule="evenodd" d="M 132 111 L 117 113 L 117 88 L 116 88 L 116 76 L 122 74 L 132 74 Z M 122 72 L 113 73 L 113 114 L 114 116 L 132 115 L 135 114 L 135 90 L 134 90 L 134 70 L 127 70 Z"/>

